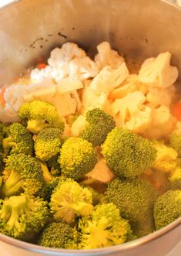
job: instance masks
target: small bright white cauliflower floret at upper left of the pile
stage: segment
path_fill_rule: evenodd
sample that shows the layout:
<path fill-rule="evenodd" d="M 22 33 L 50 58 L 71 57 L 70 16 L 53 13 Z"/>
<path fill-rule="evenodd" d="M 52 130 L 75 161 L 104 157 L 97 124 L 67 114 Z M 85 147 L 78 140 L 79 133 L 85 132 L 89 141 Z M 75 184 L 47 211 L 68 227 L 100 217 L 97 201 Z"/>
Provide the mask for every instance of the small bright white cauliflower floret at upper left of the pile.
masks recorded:
<path fill-rule="evenodd" d="M 52 79 L 52 67 L 46 66 L 42 70 L 35 68 L 31 71 L 30 78 L 33 83 L 40 83 L 47 78 Z"/>

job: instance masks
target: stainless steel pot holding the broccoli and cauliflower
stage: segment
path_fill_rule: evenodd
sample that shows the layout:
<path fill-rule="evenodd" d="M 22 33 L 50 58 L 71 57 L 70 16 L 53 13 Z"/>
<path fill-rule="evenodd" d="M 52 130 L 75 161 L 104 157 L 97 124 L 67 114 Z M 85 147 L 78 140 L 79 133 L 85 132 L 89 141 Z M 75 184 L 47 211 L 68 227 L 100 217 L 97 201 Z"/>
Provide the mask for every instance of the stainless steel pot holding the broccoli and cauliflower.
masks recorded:
<path fill-rule="evenodd" d="M 170 51 L 181 73 L 181 9 L 175 5 L 159 0 L 20 0 L 0 9 L 0 84 L 66 41 L 94 53 L 102 40 L 132 63 Z M 99 250 L 49 249 L 2 234 L 0 241 L 13 256 L 165 256 L 180 237 L 181 218 L 136 241 Z"/>

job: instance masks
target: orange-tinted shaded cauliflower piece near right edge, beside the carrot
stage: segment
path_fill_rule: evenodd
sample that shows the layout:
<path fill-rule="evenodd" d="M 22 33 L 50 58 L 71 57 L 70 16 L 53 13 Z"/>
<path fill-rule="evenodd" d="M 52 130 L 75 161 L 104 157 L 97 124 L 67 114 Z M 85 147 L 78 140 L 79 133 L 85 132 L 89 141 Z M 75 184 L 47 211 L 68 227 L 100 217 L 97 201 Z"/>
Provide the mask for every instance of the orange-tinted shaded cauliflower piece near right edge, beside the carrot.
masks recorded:
<path fill-rule="evenodd" d="M 146 138 L 164 138 L 173 131 L 176 118 L 167 106 L 153 108 L 153 118 L 150 127 L 143 133 Z"/>

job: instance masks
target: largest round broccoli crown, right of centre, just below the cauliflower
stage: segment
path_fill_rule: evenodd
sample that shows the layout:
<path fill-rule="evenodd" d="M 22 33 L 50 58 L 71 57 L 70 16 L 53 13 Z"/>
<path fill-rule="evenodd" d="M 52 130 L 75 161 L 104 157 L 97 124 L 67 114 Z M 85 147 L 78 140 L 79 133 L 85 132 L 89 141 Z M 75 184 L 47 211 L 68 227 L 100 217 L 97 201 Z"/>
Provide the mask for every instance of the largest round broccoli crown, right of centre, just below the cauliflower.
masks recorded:
<path fill-rule="evenodd" d="M 125 177 L 138 176 L 156 159 L 153 143 L 124 128 L 109 132 L 102 154 L 112 172 Z"/>

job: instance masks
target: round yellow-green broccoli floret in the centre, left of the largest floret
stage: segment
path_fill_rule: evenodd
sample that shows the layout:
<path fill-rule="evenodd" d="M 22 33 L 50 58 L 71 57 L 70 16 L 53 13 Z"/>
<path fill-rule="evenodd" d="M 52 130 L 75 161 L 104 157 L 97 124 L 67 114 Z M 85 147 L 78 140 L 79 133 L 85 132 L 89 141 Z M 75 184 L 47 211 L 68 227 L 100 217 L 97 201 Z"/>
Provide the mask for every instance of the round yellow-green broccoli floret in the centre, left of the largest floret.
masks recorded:
<path fill-rule="evenodd" d="M 62 145 L 58 162 L 63 176 L 77 180 L 94 168 L 96 152 L 85 139 L 68 138 Z"/>

